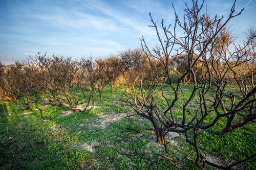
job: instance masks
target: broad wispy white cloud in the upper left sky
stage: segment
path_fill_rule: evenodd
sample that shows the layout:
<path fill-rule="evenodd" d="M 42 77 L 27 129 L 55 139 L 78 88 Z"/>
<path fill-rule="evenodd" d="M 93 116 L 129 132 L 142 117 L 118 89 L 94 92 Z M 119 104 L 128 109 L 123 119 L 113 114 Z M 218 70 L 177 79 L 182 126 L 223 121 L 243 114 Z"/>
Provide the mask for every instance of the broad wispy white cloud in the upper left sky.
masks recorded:
<path fill-rule="evenodd" d="M 58 6 L 48 6 L 48 8 L 40 9 L 44 12 L 35 12 L 33 8 L 24 10 L 23 8 L 16 9 L 14 16 L 15 20 L 22 22 L 24 29 L 43 30 L 44 27 L 52 29 L 59 29 L 68 32 L 86 32 L 88 29 L 94 29 L 94 31 L 104 32 L 122 32 L 124 29 L 120 29 L 113 19 L 105 17 L 99 17 L 89 14 L 88 11 L 80 7 L 70 7 L 64 9 Z M 26 18 L 26 19 L 25 19 Z M 27 19 L 29 18 L 29 20 Z M 20 28 L 19 28 L 20 29 Z M 47 30 L 43 30 L 47 31 Z"/>

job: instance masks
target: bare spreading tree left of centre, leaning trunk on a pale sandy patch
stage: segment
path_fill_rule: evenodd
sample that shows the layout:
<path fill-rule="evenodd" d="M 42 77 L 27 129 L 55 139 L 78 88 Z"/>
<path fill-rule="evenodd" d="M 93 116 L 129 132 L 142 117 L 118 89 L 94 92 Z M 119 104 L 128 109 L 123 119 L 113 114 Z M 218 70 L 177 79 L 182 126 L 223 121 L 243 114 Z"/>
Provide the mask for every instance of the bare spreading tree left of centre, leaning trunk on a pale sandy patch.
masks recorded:
<path fill-rule="evenodd" d="M 76 96 L 85 83 L 78 61 L 58 56 L 47 57 L 46 54 L 40 55 L 40 53 L 31 60 L 30 64 L 33 64 L 36 71 L 33 70 L 34 74 L 29 74 L 28 77 L 40 82 L 40 86 L 31 91 L 36 101 L 65 106 L 75 112 L 88 112 L 92 109 L 91 95 L 84 96 L 83 99 L 78 99 Z M 44 93 L 47 100 L 43 99 L 40 93 Z M 77 108 L 78 104 L 82 103 L 87 103 L 86 107 Z"/>

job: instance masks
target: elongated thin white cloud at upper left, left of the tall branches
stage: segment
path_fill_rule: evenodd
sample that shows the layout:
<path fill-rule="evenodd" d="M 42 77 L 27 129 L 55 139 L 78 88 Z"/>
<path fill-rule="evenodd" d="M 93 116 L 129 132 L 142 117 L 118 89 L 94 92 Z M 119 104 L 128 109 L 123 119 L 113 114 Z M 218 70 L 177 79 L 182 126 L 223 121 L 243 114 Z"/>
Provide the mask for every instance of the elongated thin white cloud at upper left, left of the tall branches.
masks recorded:
<path fill-rule="evenodd" d="M 51 26 L 66 31 L 82 31 L 92 28 L 104 30 L 105 32 L 123 31 L 118 29 L 115 21 L 103 17 L 97 17 L 85 12 L 75 10 L 64 10 L 59 7 L 50 7 L 46 13 L 36 13 L 28 11 L 20 17 L 33 19 L 42 25 Z"/>

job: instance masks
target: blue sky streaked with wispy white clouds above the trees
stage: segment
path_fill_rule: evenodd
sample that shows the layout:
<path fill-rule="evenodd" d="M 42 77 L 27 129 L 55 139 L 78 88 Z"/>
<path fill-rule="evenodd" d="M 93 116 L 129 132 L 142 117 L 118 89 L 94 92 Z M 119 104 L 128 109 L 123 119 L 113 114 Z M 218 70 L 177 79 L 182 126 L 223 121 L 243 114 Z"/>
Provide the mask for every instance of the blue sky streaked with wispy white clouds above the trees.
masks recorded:
<path fill-rule="evenodd" d="M 187 0 L 187 2 L 190 2 Z M 234 1 L 209 0 L 210 14 L 227 18 Z M 0 0 L 0 61 L 5 65 L 40 52 L 72 58 L 108 57 L 140 47 L 144 36 L 157 44 L 150 12 L 157 22 L 182 17 L 184 3 L 172 0 Z M 236 41 L 242 42 L 249 27 L 256 28 L 256 0 L 238 0 L 236 11 L 245 10 L 229 22 Z"/>

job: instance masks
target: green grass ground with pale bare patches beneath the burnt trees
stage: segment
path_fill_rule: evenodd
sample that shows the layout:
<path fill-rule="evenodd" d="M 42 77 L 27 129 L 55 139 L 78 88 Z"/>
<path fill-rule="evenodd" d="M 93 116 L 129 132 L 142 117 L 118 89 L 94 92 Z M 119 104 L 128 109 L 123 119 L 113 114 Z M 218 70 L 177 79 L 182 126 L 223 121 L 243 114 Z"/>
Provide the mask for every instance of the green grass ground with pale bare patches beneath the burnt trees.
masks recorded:
<path fill-rule="evenodd" d="M 189 92 L 191 87 L 183 88 Z M 108 86 L 102 103 L 98 98 L 96 94 L 95 107 L 88 114 L 41 104 L 44 116 L 51 120 L 42 120 L 39 110 L 27 110 L 19 102 L 0 103 L 0 169 L 175 169 L 155 155 L 118 154 L 112 145 L 123 153 L 163 150 L 155 141 L 155 133 L 145 130 L 152 128 L 147 120 L 126 117 L 134 112 L 120 88 L 112 95 Z M 255 125 L 250 123 L 224 137 L 216 136 L 223 126 L 220 121 L 198 137 L 199 147 L 208 159 L 228 164 L 256 152 Z M 182 134 L 170 141 L 169 151 L 174 159 L 193 155 L 191 146 L 184 141 Z M 237 168 L 256 169 L 256 160 Z"/>

